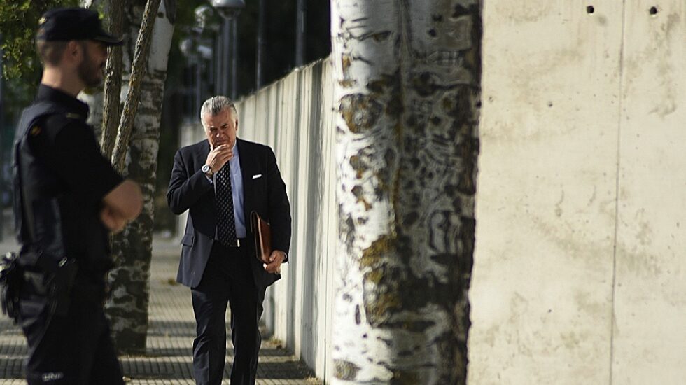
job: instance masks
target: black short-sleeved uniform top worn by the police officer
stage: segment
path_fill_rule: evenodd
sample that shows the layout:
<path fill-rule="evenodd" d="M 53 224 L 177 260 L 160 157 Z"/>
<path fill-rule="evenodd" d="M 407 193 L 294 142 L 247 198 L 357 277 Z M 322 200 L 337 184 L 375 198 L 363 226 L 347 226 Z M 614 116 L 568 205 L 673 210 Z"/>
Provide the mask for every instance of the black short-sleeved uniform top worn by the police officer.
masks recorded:
<path fill-rule="evenodd" d="M 76 259 L 78 280 L 100 283 L 113 266 L 109 230 L 99 216 L 102 198 L 123 179 L 100 152 L 87 116 L 88 106 L 75 97 L 38 87 L 36 102 L 24 111 L 17 131 L 15 146 L 28 132 L 28 148 L 18 151 L 28 151 L 31 157 L 24 160 L 33 161 L 22 165 L 23 183 L 15 183 L 14 213 L 18 241 L 27 246 L 32 242 L 22 225 L 22 193 L 27 189 L 37 236 L 33 242 L 55 260 Z M 18 167 L 15 162 L 15 181 Z"/>

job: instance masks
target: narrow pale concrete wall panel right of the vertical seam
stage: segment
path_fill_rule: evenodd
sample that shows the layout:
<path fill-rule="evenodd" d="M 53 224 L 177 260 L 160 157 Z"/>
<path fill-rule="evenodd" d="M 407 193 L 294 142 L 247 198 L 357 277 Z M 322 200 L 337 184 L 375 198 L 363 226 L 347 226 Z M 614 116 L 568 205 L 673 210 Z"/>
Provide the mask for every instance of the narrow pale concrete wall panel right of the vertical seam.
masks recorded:
<path fill-rule="evenodd" d="M 686 3 L 626 7 L 612 382 L 679 385 L 686 381 Z"/>

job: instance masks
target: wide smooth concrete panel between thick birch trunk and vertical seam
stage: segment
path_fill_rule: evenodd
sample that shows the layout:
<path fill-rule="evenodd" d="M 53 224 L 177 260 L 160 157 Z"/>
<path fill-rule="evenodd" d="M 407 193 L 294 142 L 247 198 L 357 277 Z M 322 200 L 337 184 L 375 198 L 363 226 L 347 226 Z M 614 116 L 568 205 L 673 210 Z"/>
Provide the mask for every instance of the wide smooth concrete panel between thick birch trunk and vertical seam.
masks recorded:
<path fill-rule="evenodd" d="M 622 3 L 484 1 L 469 384 L 608 384 Z"/>

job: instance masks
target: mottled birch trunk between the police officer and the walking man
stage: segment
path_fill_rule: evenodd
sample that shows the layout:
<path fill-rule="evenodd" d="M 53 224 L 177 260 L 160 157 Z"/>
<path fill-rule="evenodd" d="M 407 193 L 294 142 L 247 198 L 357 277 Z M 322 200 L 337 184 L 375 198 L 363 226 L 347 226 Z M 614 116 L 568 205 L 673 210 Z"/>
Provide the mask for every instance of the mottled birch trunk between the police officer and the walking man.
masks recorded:
<path fill-rule="evenodd" d="M 139 34 L 144 6 L 146 6 L 144 0 L 128 1 L 125 15 L 129 18 L 129 33 L 132 36 L 130 41 L 135 41 Z M 144 196 L 141 215 L 127 225 L 123 232 L 113 237 L 113 256 L 116 267 L 109 276 L 112 293 L 106 303 L 106 312 L 111 320 L 112 335 L 117 349 L 125 353 L 139 353 L 146 347 L 153 196 L 157 177 L 162 100 L 167 78 L 169 48 L 172 44 L 175 10 L 174 0 L 164 0 L 160 3 L 149 43 L 150 55 L 147 71 L 140 80 L 141 94 L 137 102 L 130 146 L 123 147 L 127 149 L 124 175 L 139 183 Z M 124 63 L 130 74 L 134 48 L 132 46 L 128 48 L 125 52 Z M 125 92 L 127 87 L 124 87 Z M 113 158 L 115 153 L 113 153 Z"/>

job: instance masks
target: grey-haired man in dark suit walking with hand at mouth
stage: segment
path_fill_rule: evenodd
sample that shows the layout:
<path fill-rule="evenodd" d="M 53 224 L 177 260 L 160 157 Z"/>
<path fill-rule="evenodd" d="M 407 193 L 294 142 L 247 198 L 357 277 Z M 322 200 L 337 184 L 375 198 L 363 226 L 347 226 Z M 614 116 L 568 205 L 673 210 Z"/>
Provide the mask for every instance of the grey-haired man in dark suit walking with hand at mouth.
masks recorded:
<path fill-rule="evenodd" d="M 207 99 L 200 120 L 207 140 L 176 152 L 167 192 L 174 214 L 189 211 L 176 281 L 193 295 L 193 372 L 197 384 L 221 384 L 229 304 L 231 384 L 255 384 L 258 321 L 265 290 L 281 278 L 281 263 L 288 260 L 290 203 L 272 149 L 236 137 L 237 111 L 230 99 Z M 255 257 L 252 211 L 272 225 L 269 264 Z"/>

